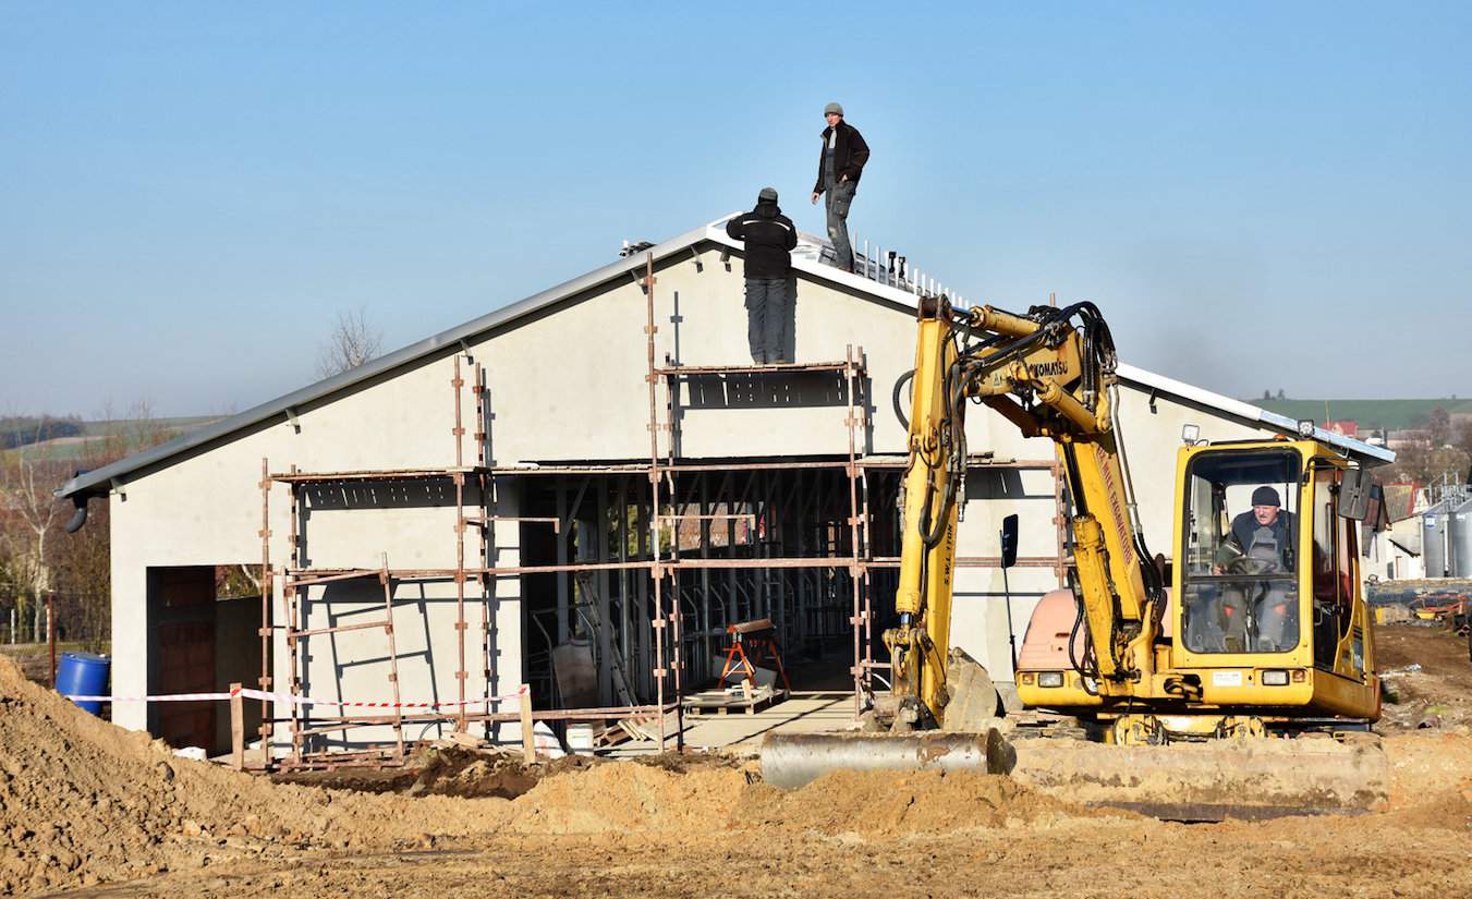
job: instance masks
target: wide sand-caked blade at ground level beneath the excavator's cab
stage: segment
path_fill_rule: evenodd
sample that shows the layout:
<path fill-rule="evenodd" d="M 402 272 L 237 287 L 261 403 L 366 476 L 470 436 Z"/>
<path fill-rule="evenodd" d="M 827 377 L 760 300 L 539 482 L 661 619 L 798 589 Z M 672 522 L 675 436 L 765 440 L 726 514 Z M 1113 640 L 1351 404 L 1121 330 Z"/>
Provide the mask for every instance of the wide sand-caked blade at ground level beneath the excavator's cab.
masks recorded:
<path fill-rule="evenodd" d="M 1014 743 L 1013 777 L 1060 799 L 1172 821 L 1362 814 L 1384 806 L 1390 765 L 1372 734 L 1114 746 Z"/>

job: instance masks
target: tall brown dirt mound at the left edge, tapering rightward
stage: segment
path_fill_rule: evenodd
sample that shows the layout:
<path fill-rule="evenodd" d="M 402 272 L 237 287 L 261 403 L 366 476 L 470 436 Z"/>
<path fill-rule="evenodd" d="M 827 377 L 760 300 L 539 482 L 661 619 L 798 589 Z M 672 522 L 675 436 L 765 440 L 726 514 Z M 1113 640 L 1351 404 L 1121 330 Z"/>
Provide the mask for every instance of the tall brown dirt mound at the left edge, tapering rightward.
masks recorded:
<path fill-rule="evenodd" d="M 0 895 L 268 850 L 393 848 L 490 827 L 505 803 L 331 795 L 172 755 L 0 658 Z"/>

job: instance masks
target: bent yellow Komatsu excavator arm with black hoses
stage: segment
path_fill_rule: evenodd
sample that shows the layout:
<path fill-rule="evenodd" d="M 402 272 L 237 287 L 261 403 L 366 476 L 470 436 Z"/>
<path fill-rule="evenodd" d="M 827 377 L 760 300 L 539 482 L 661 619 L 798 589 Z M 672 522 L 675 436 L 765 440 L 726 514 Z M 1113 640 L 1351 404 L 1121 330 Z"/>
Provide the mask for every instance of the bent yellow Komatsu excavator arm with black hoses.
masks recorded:
<path fill-rule="evenodd" d="M 885 633 L 896 719 L 938 725 L 949 700 L 957 494 L 966 478 L 966 406 L 985 403 L 1027 437 L 1048 437 L 1075 514 L 1076 597 L 1089 640 L 1076 667 L 1100 692 L 1148 683 L 1164 609 L 1133 515 L 1113 415 L 1114 346 L 1092 303 L 952 309 L 923 297 L 904 480 L 896 627 Z"/>

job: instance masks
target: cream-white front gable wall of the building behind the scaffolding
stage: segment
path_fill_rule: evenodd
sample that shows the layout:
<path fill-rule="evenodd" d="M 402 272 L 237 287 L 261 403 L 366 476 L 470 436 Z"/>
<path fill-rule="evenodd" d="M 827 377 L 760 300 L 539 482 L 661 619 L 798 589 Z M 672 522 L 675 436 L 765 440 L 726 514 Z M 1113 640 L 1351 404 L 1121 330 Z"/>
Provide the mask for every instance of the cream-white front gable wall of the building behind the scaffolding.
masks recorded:
<path fill-rule="evenodd" d="M 657 269 L 657 359 L 683 365 L 733 365 L 749 359 L 742 305 L 740 259 L 701 247 Z M 471 341 L 468 352 L 486 366 L 489 458 L 495 465 L 556 461 L 643 459 L 649 453 L 646 303 L 629 278 L 573 297 L 556 309 L 524 318 Z M 913 312 L 848 293 L 804 275 L 795 303 L 795 347 L 801 362 L 841 360 L 849 347 L 867 353 L 873 428 L 861 441 L 870 453 L 904 450 L 904 430 L 891 412 L 891 390 L 914 359 Z M 155 565 L 199 565 L 261 559 L 261 465 L 271 471 L 446 466 L 453 463 L 453 347 L 361 384 L 328 402 L 296 411 L 250 433 L 196 452 L 137 477 L 112 496 L 113 684 L 118 694 L 146 689 L 146 571 Z M 468 366 L 462 375 L 470 377 Z M 798 456 L 846 453 L 848 397 L 830 375 L 788 381 L 764 378 L 702 380 L 684 385 L 680 419 L 683 456 Z M 470 391 L 461 415 L 474 430 Z M 664 409 L 662 391 L 657 397 Z M 972 406 L 967 433 L 973 452 L 997 458 L 1051 459 L 1045 440 L 1023 440 L 995 413 Z M 1173 502 L 1175 450 L 1181 424 L 1194 422 L 1206 438 L 1248 437 L 1262 431 L 1211 412 L 1148 394 L 1123 391 L 1126 446 L 1139 490 L 1145 531 L 1156 552 L 1167 546 Z M 665 447 L 661 443 L 661 450 Z M 470 437 L 465 459 L 474 461 Z M 308 497 L 305 552 L 312 566 L 375 566 L 387 553 L 392 566 L 450 566 L 455 536 L 452 494 L 422 483 L 359 486 Z M 397 493 L 396 493 L 397 490 Z M 271 490 L 271 558 L 287 559 L 287 491 Z M 496 511 L 515 512 L 514 490 L 502 490 Z M 1054 552 L 1052 483 L 1047 469 L 1029 469 L 973 484 L 960 530 L 961 555 L 997 555 L 1001 518 L 1023 519 L 1020 555 Z M 471 541 L 473 544 L 473 541 Z M 520 559 L 517 530 L 495 533 L 492 556 L 503 565 Z M 470 558 L 475 559 L 471 550 Z M 1011 572 L 1013 622 L 1026 627 L 1033 602 L 1057 586 L 1051 569 Z M 511 690 L 521 677 L 520 590 L 517 578 L 498 581 L 495 656 L 490 684 L 470 664 L 474 694 Z M 375 583 L 333 587 L 311 625 L 344 624 L 381 612 Z M 456 640 L 453 584 L 400 584 L 394 612 L 403 699 L 455 694 Z M 280 587 L 274 618 L 281 621 Z M 477 644 L 478 615 L 467 643 Z M 967 568 L 957 575 L 957 643 L 999 677 L 1010 671 L 1007 602 L 1001 572 Z M 286 650 L 275 644 L 277 686 L 286 686 Z M 314 639 L 308 689 L 324 699 L 387 699 L 384 636 L 378 630 Z M 138 706 L 119 705 L 118 721 L 143 727 Z M 514 733 L 514 731 L 512 731 Z"/>

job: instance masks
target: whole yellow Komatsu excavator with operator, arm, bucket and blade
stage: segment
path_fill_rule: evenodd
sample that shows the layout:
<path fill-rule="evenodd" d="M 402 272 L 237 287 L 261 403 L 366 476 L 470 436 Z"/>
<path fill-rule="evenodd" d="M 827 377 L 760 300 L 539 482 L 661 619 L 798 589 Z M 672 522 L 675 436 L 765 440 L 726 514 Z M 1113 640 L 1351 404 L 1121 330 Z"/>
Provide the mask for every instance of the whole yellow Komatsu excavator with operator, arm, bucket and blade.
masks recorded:
<path fill-rule="evenodd" d="M 1114 343 L 1092 303 L 1014 313 L 926 296 L 917 318 L 898 621 L 883 634 L 892 689 L 867 733 L 770 734 L 764 778 L 985 770 L 1172 820 L 1384 803 L 1356 547 L 1367 472 L 1312 422 L 1297 438 L 1183 434 L 1166 564 L 1145 546 Z M 1027 624 L 1020 714 L 951 643 L 967 403 L 1050 438 L 1069 503 L 1069 589 Z"/>

